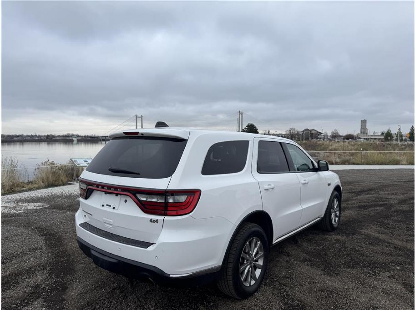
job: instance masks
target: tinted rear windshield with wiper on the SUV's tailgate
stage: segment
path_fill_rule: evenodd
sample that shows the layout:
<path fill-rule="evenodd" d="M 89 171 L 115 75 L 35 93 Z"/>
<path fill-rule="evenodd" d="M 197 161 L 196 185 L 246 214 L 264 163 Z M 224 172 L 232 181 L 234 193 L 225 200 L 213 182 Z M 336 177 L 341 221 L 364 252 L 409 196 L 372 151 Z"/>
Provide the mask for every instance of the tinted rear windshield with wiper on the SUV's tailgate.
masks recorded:
<path fill-rule="evenodd" d="M 159 137 L 113 138 L 86 167 L 89 172 L 162 179 L 177 168 L 187 140 Z"/>

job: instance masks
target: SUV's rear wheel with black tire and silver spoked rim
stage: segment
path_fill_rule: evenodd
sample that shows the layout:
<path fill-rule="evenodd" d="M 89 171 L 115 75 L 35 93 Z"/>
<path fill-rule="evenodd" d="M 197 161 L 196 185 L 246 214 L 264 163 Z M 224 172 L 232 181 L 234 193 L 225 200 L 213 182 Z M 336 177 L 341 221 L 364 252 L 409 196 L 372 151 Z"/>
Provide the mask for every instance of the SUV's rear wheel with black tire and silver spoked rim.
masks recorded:
<path fill-rule="evenodd" d="M 245 223 L 232 240 L 217 287 L 237 299 L 251 296 L 264 280 L 268 253 L 268 240 L 261 226 Z"/>

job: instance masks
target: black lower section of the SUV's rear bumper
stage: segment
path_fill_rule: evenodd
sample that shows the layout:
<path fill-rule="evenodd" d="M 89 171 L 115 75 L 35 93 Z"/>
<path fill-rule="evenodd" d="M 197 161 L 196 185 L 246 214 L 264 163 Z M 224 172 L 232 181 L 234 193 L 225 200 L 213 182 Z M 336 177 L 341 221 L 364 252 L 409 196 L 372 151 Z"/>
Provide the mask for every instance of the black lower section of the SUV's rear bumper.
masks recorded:
<path fill-rule="evenodd" d="M 198 271 L 187 276 L 175 277 L 166 274 L 155 266 L 105 252 L 82 240 L 80 237 L 77 237 L 77 242 L 82 252 L 92 259 L 97 266 L 107 271 L 122 274 L 128 278 L 149 281 L 164 286 L 192 286 L 215 281 L 219 276 L 220 266 Z"/>

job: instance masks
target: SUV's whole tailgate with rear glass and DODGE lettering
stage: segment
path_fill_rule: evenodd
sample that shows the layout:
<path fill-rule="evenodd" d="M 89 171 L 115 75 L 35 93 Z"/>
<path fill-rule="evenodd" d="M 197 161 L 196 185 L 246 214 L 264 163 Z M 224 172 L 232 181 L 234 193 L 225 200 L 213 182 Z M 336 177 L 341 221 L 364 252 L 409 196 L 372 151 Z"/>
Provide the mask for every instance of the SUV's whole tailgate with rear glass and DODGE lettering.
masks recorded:
<path fill-rule="evenodd" d="M 163 227 L 164 191 L 186 142 L 113 138 L 81 175 L 84 220 L 115 235 L 155 243 Z"/>

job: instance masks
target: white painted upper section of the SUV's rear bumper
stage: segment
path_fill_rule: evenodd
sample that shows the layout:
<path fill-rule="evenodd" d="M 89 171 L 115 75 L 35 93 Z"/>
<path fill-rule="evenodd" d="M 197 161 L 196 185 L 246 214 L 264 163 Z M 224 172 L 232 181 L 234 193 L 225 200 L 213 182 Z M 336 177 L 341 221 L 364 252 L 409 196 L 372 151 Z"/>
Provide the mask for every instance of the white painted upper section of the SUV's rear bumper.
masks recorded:
<path fill-rule="evenodd" d="M 141 247 L 86 230 L 83 223 L 84 219 L 88 221 L 88 214 L 83 212 L 79 210 L 75 217 L 78 238 L 127 261 L 154 266 L 171 278 L 182 278 L 221 266 L 234 231 L 234 225 L 224 218 L 172 217 L 164 220 L 163 229 L 154 244 Z M 120 235 L 116 227 L 112 230 L 99 224 L 96 228 Z"/>

